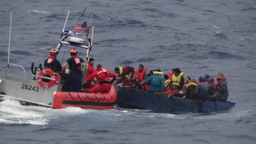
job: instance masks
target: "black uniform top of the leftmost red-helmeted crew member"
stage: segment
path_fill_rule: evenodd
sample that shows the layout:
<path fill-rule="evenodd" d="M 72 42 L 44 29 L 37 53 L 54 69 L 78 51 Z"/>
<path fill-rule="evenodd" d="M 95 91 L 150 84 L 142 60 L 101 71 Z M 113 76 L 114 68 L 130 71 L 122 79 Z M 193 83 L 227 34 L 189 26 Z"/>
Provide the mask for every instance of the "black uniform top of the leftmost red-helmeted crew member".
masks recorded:
<path fill-rule="evenodd" d="M 54 72 L 61 72 L 62 69 L 60 61 L 58 61 L 56 58 L 52 56 L 50 56 L 44 61 L 44 67 L 50 68 Z"/>

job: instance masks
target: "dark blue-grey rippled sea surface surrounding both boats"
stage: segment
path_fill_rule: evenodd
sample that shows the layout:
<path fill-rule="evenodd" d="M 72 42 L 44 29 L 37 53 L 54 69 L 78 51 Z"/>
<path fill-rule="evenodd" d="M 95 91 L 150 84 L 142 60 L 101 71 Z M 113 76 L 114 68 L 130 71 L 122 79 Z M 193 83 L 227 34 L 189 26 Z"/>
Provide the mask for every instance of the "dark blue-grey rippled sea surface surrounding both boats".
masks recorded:
<path fill-rule="evenodd" d="M 0 102 L 0 144 L 256 144 L 256 0 L 0 0 L 0 76 L 43 63 L 66 28 L 94 22 L 95 64 L 144 64 L 185 76 L 224 73 L 236 106 L 207 114 L 52 110 Z M 68 47 L 64 61 L 69 57 Z M 79 56 L 86 52 L 78 49 Z M 64 49 L 58 59 L 61 61 Z M 64 63 L 64 62 L 63 62 Z M 95 66 L 94 66 L 95 68 Z M 22 76 L 22 69 L 14 69 Z"/>

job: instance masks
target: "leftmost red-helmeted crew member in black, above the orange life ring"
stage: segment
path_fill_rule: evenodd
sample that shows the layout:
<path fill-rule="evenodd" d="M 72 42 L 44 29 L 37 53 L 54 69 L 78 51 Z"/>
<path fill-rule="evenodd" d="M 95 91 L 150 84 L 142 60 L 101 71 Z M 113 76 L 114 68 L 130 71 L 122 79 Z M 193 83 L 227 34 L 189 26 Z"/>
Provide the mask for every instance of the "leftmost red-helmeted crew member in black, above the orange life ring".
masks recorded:
<path fill-rule="evenodd" d="M 50 57 L 44 61 L 44 68 L 43 69 L 50 69 L 54 72 L 61 72 L 61 64 L 60 61 L 56 59 L 57 51 L 50 50 Z"/>

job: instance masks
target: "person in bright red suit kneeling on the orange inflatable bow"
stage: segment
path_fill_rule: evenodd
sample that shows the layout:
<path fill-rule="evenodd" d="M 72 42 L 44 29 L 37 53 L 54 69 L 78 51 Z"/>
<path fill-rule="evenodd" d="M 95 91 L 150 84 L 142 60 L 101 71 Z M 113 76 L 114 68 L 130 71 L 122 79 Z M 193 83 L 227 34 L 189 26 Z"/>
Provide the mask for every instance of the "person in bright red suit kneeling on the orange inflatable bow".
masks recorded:
<path fill-rule="evenodd" d="M 100 64 L 98 64 L 96 71 L 94 73 L 90 74 L 86 78 L 85 82 L 86 83 L 91 82 L 92 80 L 94 80 L 94 77 L 97 78 L 98 85 L 94 86 L 89 91 L 92 93 L 98 93 L 98 92 L 106 93 L 106 92 L 110 91 L 111 86 L 112 86 L 110 77 L 116 78 L 117 74 L 115 74 L 113 72 L 109 72 L 105 68 L 102 68 L 102 66 Z"/>

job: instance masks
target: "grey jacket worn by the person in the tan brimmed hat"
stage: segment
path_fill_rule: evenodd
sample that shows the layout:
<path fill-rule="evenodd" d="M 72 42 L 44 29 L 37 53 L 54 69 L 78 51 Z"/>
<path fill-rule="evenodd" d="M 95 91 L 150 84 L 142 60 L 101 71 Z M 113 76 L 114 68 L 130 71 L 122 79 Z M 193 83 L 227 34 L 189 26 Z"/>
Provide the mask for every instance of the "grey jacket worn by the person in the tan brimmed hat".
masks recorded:
<path fill-rule="evenodd" d="M 217 101 L 226 102 L 228 100 L 228 84 L 226 81 L 220 82 L 213 96 L 217 97 Z"/>

